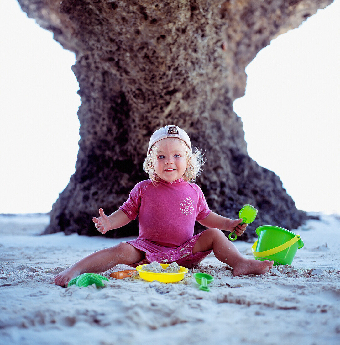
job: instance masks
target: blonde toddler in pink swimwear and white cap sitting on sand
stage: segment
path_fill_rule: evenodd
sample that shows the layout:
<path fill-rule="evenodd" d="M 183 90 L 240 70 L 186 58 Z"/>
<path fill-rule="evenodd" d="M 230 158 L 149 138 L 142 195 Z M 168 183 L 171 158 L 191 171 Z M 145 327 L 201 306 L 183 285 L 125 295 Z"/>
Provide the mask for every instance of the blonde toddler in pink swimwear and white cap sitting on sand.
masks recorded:
<path fill-rule="evenodd" d="M 105 234 L 120 228 L 138 215 L 139 236 L 114 247 L 98 250 L 84 257 L 54 278 L 54 283 L 67 286 L 82 274 L 105 272 L 117 264 L 137 267 L 153 261 L 192 268 L 212 251 L 221 262 L 233 268 L 233 275 L 260 275 L 268 272 L 273 262 L 244 258 L 221 230 L 240 236 L 247 224 L 242 219 L 229 219 L 212 212 L 201 188 L 192 183 L 201 172 L 201 150 L 194 152 L 188 134 L 177 126 L 156 130 L 149 142 L 143 168 L 150 179 L 139 182 L 128 200 L 107 216 L 99 209 L 93 222 Z M 208 229 L 193 236 L 198 221 Z"/>

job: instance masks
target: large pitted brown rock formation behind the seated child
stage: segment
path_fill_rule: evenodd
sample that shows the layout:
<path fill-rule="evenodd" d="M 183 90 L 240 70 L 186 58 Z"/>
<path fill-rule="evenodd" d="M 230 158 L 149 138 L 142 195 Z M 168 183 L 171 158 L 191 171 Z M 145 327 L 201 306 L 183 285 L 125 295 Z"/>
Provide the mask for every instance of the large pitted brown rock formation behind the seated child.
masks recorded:
<path fill-rule="evenodd" d="M 304 221 L 279 177 L 248 156 L 232 102 L 244 94 L 244 69 L 256 54 L 331 0 L 19 3 L 77 58 L 76 172 L 53 205 L 46 233 L 98 234 L 92 217 L 99 207 L 116 210 L 147 178 L 142 162 L 149 137 L 168 124 L 187 130 L 206 152 L 197 183 L 211 209 L 237 217 L 244 204 L 256 206 L 252 230 L 260 224 L 291 229 Z M 131 222 L 108 236 L 137 234 L 137 226 Z"/>

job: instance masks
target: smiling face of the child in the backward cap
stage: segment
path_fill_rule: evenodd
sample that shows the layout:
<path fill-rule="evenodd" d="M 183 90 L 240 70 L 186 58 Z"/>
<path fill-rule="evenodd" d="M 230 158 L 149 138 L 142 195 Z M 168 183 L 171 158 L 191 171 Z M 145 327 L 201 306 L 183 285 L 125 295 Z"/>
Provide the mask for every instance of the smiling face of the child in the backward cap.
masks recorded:
<path fill-rule="evenodd" d="M 157 141 L 156 149 L 154 169 L 157 176 L 167 182 L 181 178 L 189 166 L 181 141 L 175 138 L 162 139 Z"/>

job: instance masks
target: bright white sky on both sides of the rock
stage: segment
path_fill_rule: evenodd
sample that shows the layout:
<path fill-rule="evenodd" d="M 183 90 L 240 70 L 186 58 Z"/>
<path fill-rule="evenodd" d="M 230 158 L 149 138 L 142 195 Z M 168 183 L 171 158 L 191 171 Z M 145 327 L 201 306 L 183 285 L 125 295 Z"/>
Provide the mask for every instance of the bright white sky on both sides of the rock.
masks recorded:
<path fill-rule="evenodd" d="M 48 212 L 74 172 L 79 140 L 74 54 L 0 2 L 0 213 Z M 340 214 L 340 0 L 273 40 L 234 102 L 249 155 L 296 206 Z"/>

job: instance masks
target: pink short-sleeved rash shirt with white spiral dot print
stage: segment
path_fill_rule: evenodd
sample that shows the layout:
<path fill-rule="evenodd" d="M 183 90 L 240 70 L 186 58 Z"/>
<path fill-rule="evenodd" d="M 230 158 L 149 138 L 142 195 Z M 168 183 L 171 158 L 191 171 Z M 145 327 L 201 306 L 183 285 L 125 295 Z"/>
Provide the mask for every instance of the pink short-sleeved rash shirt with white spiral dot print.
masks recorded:
<path fill-rule="evenodd" d="M 164 247 L 179 247 L 193 236 L 196 220 L 211 210 L 201 188 L 183 178 L 173 182 L 139 182 L 128 200 L 119 208 L 130 219 L 139 220 L 138 239 Z"/>

